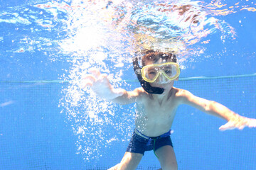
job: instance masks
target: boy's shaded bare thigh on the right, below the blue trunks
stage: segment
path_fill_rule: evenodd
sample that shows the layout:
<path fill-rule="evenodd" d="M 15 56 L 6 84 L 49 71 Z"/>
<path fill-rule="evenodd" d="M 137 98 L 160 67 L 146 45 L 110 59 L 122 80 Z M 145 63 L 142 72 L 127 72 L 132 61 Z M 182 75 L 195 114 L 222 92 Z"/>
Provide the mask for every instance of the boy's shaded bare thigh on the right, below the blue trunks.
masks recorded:
<path fill-rule="evenodd" d="M 163 170 L 178 169 L 174 148 L 170 145 L 166 145 L 157 149 L 156 155 L 159 157 L 159 162 Z"/>

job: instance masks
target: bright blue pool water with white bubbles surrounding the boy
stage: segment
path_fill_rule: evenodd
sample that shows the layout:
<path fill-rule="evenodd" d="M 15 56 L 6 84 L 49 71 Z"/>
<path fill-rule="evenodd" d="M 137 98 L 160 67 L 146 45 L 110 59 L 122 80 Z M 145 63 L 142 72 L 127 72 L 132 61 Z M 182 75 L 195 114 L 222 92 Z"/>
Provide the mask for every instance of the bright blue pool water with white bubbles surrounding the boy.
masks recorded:
<path fill-rule="evenodd" d="M 0 169 L 107 169 L 120 162 L 134 128 L 134 104 L 102 101 L 81 90 L 79 80 L 88 68 L 100 67 L 113 74 L 115 86 L 139 87 L 130 61 L 136 44 L 129 40 L 146 32 L 124 16 L 135 21 L 139 11 L 154 12 L 157 3 L 137 2 L 0 1 Z M 208 13 L 198 34 L 161 13 L 139 18 L 155 37 L 194 35 L 178 56 L 182 69 L 174 86 L 256 118 L 255 3 L 218 1 L 225 6 L 212 11 L 199 1 L 181 3 L 196 3 L 194 11 Z M 203 30 L 210 33 L 200 37 Z M 220 132 L 224 123 L 180 106 L 171 135 L 178 169 L 256 169 L 256 130 Z M 159 168 L 152 152 L 138 167 Z"/>

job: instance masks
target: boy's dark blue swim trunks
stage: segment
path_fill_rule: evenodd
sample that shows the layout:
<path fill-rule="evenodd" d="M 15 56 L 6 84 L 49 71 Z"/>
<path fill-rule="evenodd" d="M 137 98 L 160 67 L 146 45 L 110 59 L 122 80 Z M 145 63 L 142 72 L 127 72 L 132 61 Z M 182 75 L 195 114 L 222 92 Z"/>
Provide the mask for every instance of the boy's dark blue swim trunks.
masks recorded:
<path fill-rule="evenodd" d="M 147 137 L 146 135 L 143 135 L 141 132 L 139 132 L 139 130 L 137 130 L 139 134 L 144 136 L 142 137 L 141 135 L 137 135 L 135 130 L 132 133 L 132 138 L 127 147 L 127 152 L 139 153 L 144 155 L 145 151 L 154 150 L 155 152 L 160 147 L 164 147 L 166 145 L 170 145 L 171 147 L 173 147 L 170 137 L 171 130 L 159 137 Z"/>

